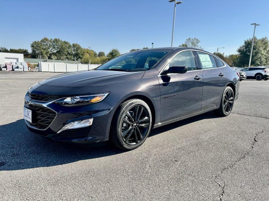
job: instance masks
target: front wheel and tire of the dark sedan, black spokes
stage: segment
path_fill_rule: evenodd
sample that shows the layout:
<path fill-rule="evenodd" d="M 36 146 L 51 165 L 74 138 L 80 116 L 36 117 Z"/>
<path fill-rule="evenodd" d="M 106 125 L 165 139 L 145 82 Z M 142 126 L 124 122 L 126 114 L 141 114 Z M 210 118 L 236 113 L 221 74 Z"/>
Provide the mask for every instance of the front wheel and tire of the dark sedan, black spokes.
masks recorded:
<path fill-rule="evenodd" d="M 136 149 L 147 139 L 151 124 L 152 115 L 146 102 L 140 99 L 125 101 L 118 107 L 112 121 L 112 142 L 123 150 Z"/>

